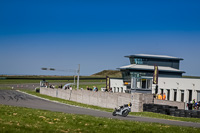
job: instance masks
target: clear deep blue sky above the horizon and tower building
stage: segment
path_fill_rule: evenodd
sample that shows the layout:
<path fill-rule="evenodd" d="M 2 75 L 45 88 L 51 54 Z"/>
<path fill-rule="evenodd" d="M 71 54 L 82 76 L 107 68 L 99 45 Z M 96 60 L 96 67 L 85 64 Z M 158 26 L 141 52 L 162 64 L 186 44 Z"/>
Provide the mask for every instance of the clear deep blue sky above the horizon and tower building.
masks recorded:
<path fill-rule="evenodd" d="M 200 76 L 199 0 L 0 1 L 0 74 L 90 75 L 128 65 L 125 55 L 184 58 Z"/>

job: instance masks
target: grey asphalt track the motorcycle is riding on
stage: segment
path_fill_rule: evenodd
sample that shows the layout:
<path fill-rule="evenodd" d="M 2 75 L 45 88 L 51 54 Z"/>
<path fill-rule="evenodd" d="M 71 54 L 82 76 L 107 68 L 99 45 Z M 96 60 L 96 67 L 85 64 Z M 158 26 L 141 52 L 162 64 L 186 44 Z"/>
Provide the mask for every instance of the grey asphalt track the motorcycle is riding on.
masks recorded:
<path fill-rule="evenodd" d="M 84 114 L 95 117 L 105 117 L 120 120 L 140 121 L 140 122 L 153 122 L 176 126 L 187 126 L 200 128 L 200 123 L 172 121 L 156 118 L 138 117 L 128 115 L 127 117 L 112 116 L 112 113 L 76 107 L 63 103 L 52 102 L 39 97 L 31 96 L 16 90 L 0 90 L 0 104 L 27 107 L 34 109 L 50 110 L 55 112 L 64 112 L 70 114 Z"/>

